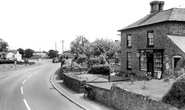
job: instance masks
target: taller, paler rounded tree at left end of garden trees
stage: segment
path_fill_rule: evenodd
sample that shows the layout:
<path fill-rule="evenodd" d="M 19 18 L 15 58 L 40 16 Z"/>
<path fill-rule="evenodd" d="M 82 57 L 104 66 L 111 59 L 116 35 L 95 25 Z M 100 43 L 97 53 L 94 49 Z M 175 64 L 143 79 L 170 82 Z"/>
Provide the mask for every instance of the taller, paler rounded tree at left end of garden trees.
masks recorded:
<path fill-rule="evenodd" d="M 74 41 L 71 42 L 71 53 L 82 54 L 84 53 L 84 46 L 89 43 L 89 40 L 83 36 L 79 35 Z"/>

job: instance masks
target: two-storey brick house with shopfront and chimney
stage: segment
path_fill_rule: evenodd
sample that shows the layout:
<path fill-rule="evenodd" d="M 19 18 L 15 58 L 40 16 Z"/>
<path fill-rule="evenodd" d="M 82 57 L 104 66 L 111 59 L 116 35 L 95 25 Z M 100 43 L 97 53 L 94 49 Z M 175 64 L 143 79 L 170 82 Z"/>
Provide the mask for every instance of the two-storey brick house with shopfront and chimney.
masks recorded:
<path fill-rule="evenodd" d="M 163 10 L 163 1 L 150 6 L 150 14 L 118 30 L 121 71 L 155 78 L 177 75 L 185 65 L 185 9 Z"/>

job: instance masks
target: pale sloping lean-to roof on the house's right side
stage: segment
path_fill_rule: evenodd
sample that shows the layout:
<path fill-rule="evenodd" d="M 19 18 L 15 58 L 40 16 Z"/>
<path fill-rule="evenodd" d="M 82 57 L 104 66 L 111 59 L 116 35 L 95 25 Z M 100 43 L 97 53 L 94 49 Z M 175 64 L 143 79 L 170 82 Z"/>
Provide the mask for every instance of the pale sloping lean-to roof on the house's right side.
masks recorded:
<path fill-rule="evenodd" d="M 185 36 L 167 36 L 185 53 Z"/>

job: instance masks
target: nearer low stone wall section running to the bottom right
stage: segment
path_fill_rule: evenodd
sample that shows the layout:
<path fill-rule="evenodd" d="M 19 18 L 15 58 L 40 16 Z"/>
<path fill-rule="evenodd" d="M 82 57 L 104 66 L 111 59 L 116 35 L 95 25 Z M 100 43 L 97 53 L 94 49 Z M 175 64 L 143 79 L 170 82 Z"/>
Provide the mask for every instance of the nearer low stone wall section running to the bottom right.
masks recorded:
<path fill-rule="evenodd" d="M 133 93 L 114 84 L 110 90 L 89 84 L 96 101 L 110 105 L 118 110 L 178 110 L 160 100 L 144 94 Z"/>

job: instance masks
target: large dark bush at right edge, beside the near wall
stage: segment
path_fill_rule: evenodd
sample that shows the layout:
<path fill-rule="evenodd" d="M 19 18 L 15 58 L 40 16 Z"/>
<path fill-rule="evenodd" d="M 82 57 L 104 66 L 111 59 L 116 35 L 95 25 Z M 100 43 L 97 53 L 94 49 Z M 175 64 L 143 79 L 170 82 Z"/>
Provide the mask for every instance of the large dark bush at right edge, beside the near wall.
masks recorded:
<path fill-rule="evenodd" d="M 177 108 L 182 108 L 185 105 L 185 74 L 173 83 L 171 89 L 163 97 L 162 101 L 171 104 Z"/>

